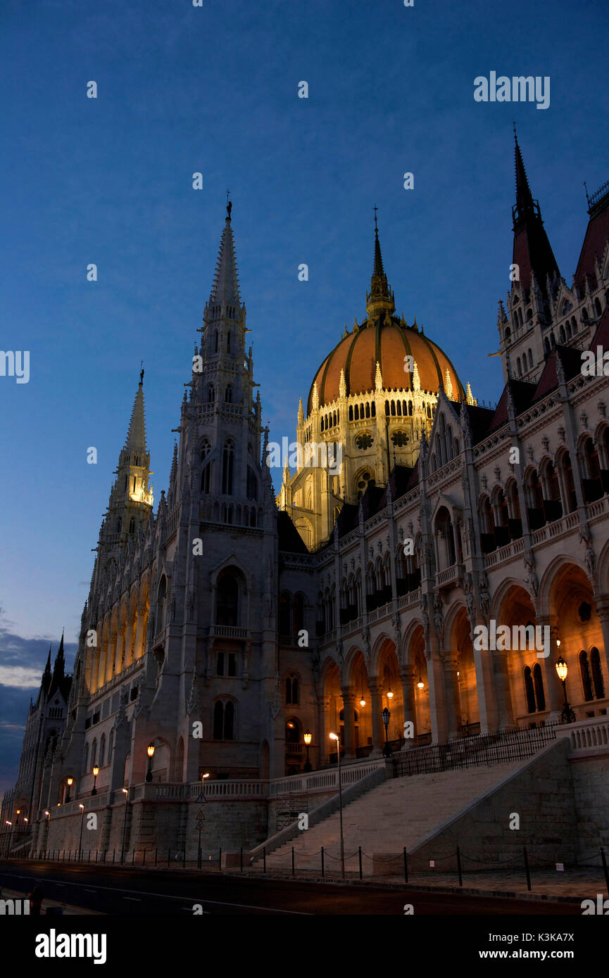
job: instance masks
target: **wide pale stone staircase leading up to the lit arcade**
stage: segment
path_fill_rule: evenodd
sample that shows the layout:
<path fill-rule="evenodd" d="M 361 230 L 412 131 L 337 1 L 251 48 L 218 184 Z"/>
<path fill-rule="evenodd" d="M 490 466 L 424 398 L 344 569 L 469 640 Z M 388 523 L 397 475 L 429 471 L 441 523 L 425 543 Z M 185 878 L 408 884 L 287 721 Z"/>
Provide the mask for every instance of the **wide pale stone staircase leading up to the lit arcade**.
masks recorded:
<path fill-rule="evenodd" d="M 391 778 L 343 808 L 345 856 L 348 869 L 357 868 L 358 846 L 366 854 L 364 873 L 372 872 L 373 854 L 411 851 L 435 829 L 469 808 L 495 785 L 514 774 L 522 761 L 486 767 L 465 768 L 438 774 Z M 290 868 L 292 846 L 297 867 L 320 867 L 323 846 L 326 869 L 336 871 L 340 854 L 340 822 L 336 812 L 298 833 L 294 839 L 266 856 L 267 869 Z M 260 858 L 256 860 L 257 864 Z M 399 872 L 399 867 L 396 869 Z"/>

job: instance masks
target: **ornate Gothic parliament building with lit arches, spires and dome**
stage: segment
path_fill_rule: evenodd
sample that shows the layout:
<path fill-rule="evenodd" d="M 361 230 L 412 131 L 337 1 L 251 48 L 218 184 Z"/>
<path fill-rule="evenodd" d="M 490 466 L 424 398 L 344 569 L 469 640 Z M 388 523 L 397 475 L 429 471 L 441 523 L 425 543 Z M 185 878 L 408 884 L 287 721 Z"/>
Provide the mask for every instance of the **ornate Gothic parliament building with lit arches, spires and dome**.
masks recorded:
<path fill-rule="evenodd" d="M 583 375 L 581 353 L 609 348 L 609 190 L 589 200 L 571 288 L 518 146 L 516 198 L 496 407 L 398 318 L 375 232 L 366 315 L 298 413 L 299 444 L 340 443 L 342 467 L 285 469 L 276 500 L 228 211 L 156 514 L 142 381 L 136 394 L 39 826 L 70 774 L 72 799 L 90 796 L 99 764 L 100 849 L 116 842 L 123 786 L 131 848 L 163 834 L 190 846 L 209 772 L 211 786 L 249 785 L 249 807 L 233 822 L 223 809 L 207 841 L 253 845 L 268 821 L 252 785 L 304 770 L 306 730 L 318 768 L 336 760 L 333 731 L 346 762 L 379 756 L 385 706 L 395 749 L 408 721 L 420 744 L 546 723 L 563 708 L 559 651 L 578 720 L 606 714 L 608 385 Z M 491 621 L 548 626 L 549 654 L 475 649 Z M 69 806 L 52 821 L 57 845 L 76 822 Z"/>

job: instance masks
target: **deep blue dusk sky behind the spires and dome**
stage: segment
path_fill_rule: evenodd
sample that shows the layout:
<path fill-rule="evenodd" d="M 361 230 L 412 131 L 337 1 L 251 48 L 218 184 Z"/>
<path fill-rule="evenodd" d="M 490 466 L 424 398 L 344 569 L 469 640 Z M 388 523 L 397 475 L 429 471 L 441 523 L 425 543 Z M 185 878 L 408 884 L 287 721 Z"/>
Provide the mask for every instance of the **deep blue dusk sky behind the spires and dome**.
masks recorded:
<path fill-rule="evenodd" d="M 142 358 L 156 501 L 167 485 L 227 187 L 272 440 L 294 437 L 299 396 L 364 316 L 373 204 L 398 313 L 497 400 L 512 119 L 571 284 L 583 182 L 609 178 L 605 14 L 589 0 L 4 0 L 0 345 L 30 351 L 28 383 L 0 377 L 5 689 L 25 693 L 14 666 L 39 672 L 64 626 L 73 652 Z M 550 107 L 476 103 L 491 70 L 549 75 Z"/>

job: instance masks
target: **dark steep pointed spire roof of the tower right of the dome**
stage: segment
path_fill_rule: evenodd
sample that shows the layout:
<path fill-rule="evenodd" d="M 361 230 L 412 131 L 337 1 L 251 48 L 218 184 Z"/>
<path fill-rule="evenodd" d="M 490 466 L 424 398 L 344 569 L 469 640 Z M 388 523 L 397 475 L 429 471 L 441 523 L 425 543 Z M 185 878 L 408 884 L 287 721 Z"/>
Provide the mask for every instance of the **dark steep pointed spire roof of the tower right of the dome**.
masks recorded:
<path fill-rule="evenodd" d="M 547 279 L 553 282 L 555 277 L 560 278 L 558 264 L 554 257 L 551 245 L 543 228 L 539 201 L 533 199 L 529 180 L 525 170 L 516 130 L 514 129 L 515 140 L 515 170 L 516 170 L 516 203 L 512 207 L 512 220 L 514 225 L 514 248 L 512 262 L 518 266 L 518 278 L 515 285 L 520 282 L 524 289 L 525 301 L 529 301 L 529 292 L 532 286 L 532 276 L 535 275 L 539 287 L 543 293 L 544 302 L 549 300 L 547 295 Z M 549 309 L 547 310 L 549 314 Z"/>

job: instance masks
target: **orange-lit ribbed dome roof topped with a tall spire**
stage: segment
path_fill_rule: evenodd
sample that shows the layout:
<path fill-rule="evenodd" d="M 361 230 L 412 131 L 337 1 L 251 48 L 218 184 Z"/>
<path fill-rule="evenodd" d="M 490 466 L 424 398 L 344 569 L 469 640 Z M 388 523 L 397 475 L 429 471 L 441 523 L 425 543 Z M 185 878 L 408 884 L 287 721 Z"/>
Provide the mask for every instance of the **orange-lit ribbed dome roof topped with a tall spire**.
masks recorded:
<path fill-rule="evenodd" d="M 377 362 L 385 390 L 421 389 L 435 394 L 444 390 L 452 400 L 465 397 L 463 385 L 444 350 L 419 330 L 416 320 L 413 326 L 408 326 L 403 316 L 400 320 L 395 315 L 394 293 L 387 284 L 376 230 L 374 272 L 366 298 L 366 320 L 361 326 L 355 323 L 352 332 L 343 336 L 315 374 L 308 393 L 307 414 L 312 409 L 315 384 L 320 408 L 338 400 L 341 371 L 345 372 L 348 397 L 373 391 Z M 404 360 L 406 356 L 412 357 L 415 371 L 404 370 L 412 366 Z"/>

